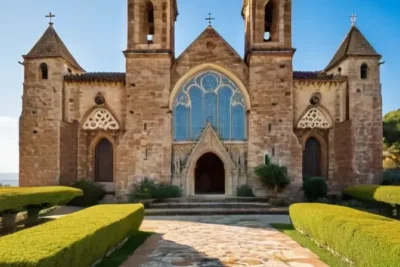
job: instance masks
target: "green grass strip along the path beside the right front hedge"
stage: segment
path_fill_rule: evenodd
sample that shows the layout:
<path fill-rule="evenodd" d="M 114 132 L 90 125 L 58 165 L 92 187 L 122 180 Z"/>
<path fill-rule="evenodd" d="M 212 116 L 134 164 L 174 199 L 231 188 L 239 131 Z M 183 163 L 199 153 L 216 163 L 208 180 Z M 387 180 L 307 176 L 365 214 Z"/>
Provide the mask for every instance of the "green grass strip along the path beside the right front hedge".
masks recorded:
<path fill-rule="evenodd" d="M 319 247 L 315 244 L 311 239 L 306 237 L 305 235 L 299 233 L 294 229 L 293 225 L 291 224 L 271 224 L 272 227 L 276 228 L 277 230 L 281 231 L 285 235 L 292 238 L 294 241 L 299 243 L 301 246 L 308 248 L 312 252 L 314 252 L 323 262 L 328 264 L 331 267 L 348 267 L 349 264 L 339 257 L 336 257 L 328 250 Z"/>

